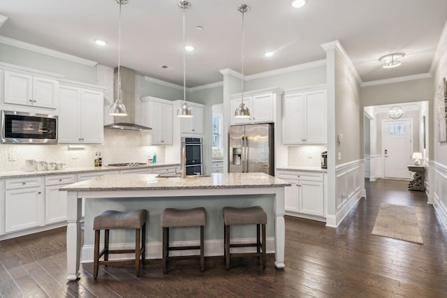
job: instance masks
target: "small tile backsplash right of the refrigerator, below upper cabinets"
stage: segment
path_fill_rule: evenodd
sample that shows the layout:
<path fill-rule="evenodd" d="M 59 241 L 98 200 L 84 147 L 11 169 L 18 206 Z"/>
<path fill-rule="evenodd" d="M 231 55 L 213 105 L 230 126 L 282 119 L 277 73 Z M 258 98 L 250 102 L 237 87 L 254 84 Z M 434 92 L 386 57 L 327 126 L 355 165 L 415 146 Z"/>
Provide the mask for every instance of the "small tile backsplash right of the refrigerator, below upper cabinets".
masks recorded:
<path fill-rule="evenodd" d="M 288 165 L 302 167 L 321 167 L 321 152 L 325 146 L 302 145 L 288 147 Z"/>

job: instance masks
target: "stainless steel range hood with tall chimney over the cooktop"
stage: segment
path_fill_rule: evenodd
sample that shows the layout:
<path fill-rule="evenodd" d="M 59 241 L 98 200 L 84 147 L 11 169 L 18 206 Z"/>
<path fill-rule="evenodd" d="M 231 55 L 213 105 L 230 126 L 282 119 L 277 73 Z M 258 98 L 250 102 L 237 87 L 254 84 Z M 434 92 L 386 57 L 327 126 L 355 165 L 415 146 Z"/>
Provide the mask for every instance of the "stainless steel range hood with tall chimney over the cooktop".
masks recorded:
<path fill-rule="evenodd" d="M 118 68 L 115 68 L 117 73 Z M 104 128 L 128 129 L 132 131 L 148 131 L 152 128 L 135 124 L 135 70 L 120 68 L 122 103 L 126 106 L 127 116 L 114 117 L 114 123 L 105 125 Z M 118 94 L 117 84 L 114 86 L 115 100 Z"/>

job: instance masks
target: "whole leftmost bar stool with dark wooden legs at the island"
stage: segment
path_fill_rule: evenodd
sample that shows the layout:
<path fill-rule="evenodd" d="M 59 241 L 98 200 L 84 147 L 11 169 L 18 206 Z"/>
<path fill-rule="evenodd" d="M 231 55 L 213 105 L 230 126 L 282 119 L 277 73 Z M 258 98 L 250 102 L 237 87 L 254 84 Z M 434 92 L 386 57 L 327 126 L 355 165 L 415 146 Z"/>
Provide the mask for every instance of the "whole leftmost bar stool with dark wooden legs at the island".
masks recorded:
<path fill-rule="evenodd" d="M 146 246 L 146 220 L 147 210 L 140 209 L 134 211 L 105 210 L 94 218 L 93 230 L 95 230 L 94 244 L 94 267 L 93 277 L 98 276 L 99 265 L 124 265 L 135 264 L 135 275 L 140 276 L 140 256 L 141 262 L 145 264 Z M 135 229 L 135 249 L 109 249 L 110 230 Z M 105 230 L 104 249 L 99 252 L 100 231 Z M 141 232 L 141 237 L 140 237 Z M 140 246 L 141 238 L 141 246 Z M 109 260 L 110 253 L 135 253 L 135 260 Z M 104 260 L 99 260 L 104 255 Z"/>

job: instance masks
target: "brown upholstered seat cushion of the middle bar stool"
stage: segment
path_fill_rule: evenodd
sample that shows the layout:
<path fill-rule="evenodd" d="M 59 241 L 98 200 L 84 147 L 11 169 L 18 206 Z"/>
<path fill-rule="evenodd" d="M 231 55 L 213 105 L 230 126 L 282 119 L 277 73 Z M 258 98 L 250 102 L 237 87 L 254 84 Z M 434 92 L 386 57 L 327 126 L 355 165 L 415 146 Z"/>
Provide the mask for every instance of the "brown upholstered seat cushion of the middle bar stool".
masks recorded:
<path fill-rule="evenodd" d="M 166 208 L 161 214 L 161 227 L 187 227 L 205 225 L 205 208 L 174 209 Z"/>

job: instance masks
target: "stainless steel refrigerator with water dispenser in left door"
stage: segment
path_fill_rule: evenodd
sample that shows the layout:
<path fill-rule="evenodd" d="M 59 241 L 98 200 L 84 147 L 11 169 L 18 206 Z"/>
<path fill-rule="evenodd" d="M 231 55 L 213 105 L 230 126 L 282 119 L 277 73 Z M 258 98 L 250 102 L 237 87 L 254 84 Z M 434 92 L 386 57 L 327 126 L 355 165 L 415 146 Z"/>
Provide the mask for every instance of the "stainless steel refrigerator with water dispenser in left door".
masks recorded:
<path fill-rule="evenodd" d="M 273 124 L 233 125 L 229 135 L 230 173 L 264 172 L 274 176 Z"/>

